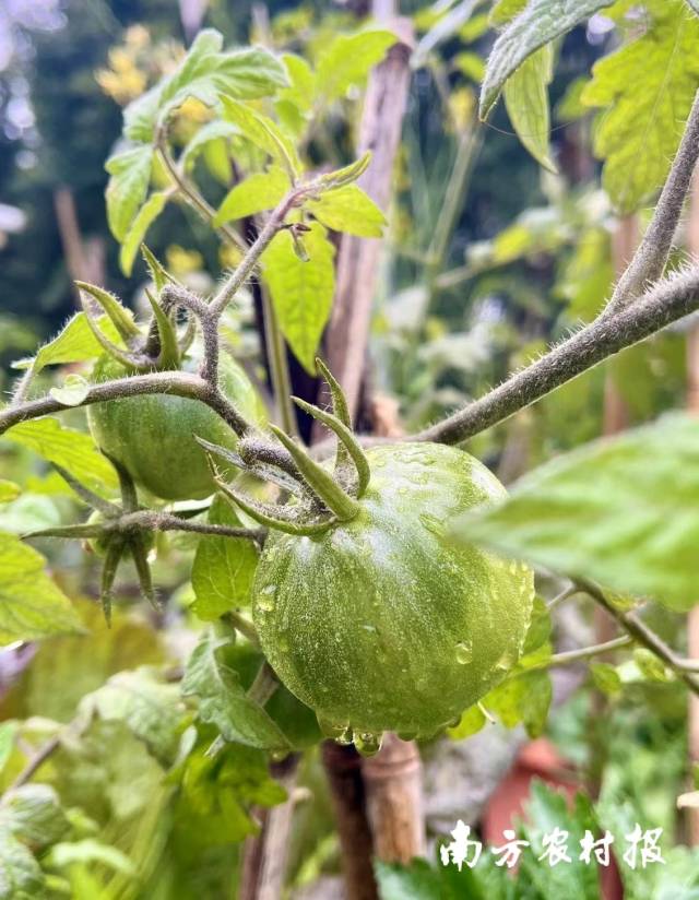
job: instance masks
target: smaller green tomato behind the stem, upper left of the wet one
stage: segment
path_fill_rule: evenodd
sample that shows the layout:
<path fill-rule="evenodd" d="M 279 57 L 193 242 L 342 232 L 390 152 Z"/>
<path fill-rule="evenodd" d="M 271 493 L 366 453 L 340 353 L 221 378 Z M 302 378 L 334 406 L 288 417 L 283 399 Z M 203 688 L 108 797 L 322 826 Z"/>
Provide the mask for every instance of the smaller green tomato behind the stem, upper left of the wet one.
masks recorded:
<path fill-rule="evenodd" d="M 198 360 L 187 359 L 182 368 L 197 370 Z M 93 380 L 126 375 L 120 363 L 105 355 L 95 364 Z M 254 388 L 229 356 L 218 363 L 218 386 L 246 418 L 263 421 Z M 206 455 L 194 435 L 229 449 L 237 443 L 235 433 L 213 410 L 182 396 L 147 394 L 97 403 L 88 408 L 87 421 L 97 446 L 137 484 L 164 500 L 201 499 L 214 490 Z"/>

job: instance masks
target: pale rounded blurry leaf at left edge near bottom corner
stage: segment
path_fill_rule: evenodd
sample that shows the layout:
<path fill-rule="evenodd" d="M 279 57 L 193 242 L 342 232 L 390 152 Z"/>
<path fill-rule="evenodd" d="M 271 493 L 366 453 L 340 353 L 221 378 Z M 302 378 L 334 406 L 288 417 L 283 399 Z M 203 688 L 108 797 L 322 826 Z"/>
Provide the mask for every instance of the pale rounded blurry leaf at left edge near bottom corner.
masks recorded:
<path fill-rule="evenodd" d="M 48 784 L 23 784 L 0 801 L 0 834 L 12 834 L 33 850 L 42 850 L 70 831 L 56 791 Z"/>

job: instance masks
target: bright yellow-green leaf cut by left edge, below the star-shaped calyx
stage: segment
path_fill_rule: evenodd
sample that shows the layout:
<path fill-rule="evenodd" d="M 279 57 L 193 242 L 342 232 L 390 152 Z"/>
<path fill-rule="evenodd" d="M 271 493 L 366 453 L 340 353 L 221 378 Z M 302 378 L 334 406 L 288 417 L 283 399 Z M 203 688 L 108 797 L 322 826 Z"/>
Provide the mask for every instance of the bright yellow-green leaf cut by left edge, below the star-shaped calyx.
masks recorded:
<path fill-rule="evenodd" d="M 80 631 L 70 600 L 44 571 L 46 560 L 0 532 L 0 646 Z"/>

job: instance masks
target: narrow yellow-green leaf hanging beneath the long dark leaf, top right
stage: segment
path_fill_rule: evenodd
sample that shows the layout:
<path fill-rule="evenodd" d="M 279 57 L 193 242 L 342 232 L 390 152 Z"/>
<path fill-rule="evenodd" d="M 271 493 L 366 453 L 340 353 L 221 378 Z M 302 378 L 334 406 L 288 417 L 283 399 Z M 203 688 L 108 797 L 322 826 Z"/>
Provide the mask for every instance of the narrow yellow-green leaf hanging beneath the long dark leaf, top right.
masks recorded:
<path fill-rule="evenodd" d="M 505 105 L 518 138 L 534 159 L 557 171 L 550 156 L 548 85 L 554 75 L 554 48 L 546 44 L 528 57 L 505 82 Z"/>

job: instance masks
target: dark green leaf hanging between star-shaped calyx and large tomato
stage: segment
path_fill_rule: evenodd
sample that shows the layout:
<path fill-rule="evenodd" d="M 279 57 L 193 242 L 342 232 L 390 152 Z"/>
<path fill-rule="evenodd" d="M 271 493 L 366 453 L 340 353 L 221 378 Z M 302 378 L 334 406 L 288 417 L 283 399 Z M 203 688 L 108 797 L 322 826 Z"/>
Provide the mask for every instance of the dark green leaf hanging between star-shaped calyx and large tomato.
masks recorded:
<path fill-rule="evenodd" d="M 240 525 L 230 504 L 216 496 L 209 510 L 215 524 Z M 250 603 L 250 588 L 259 552 L 246 538 L 202 536 L 192 566 L 193 612 L 204 621 L 215 621 L 224 613 Z"/>

